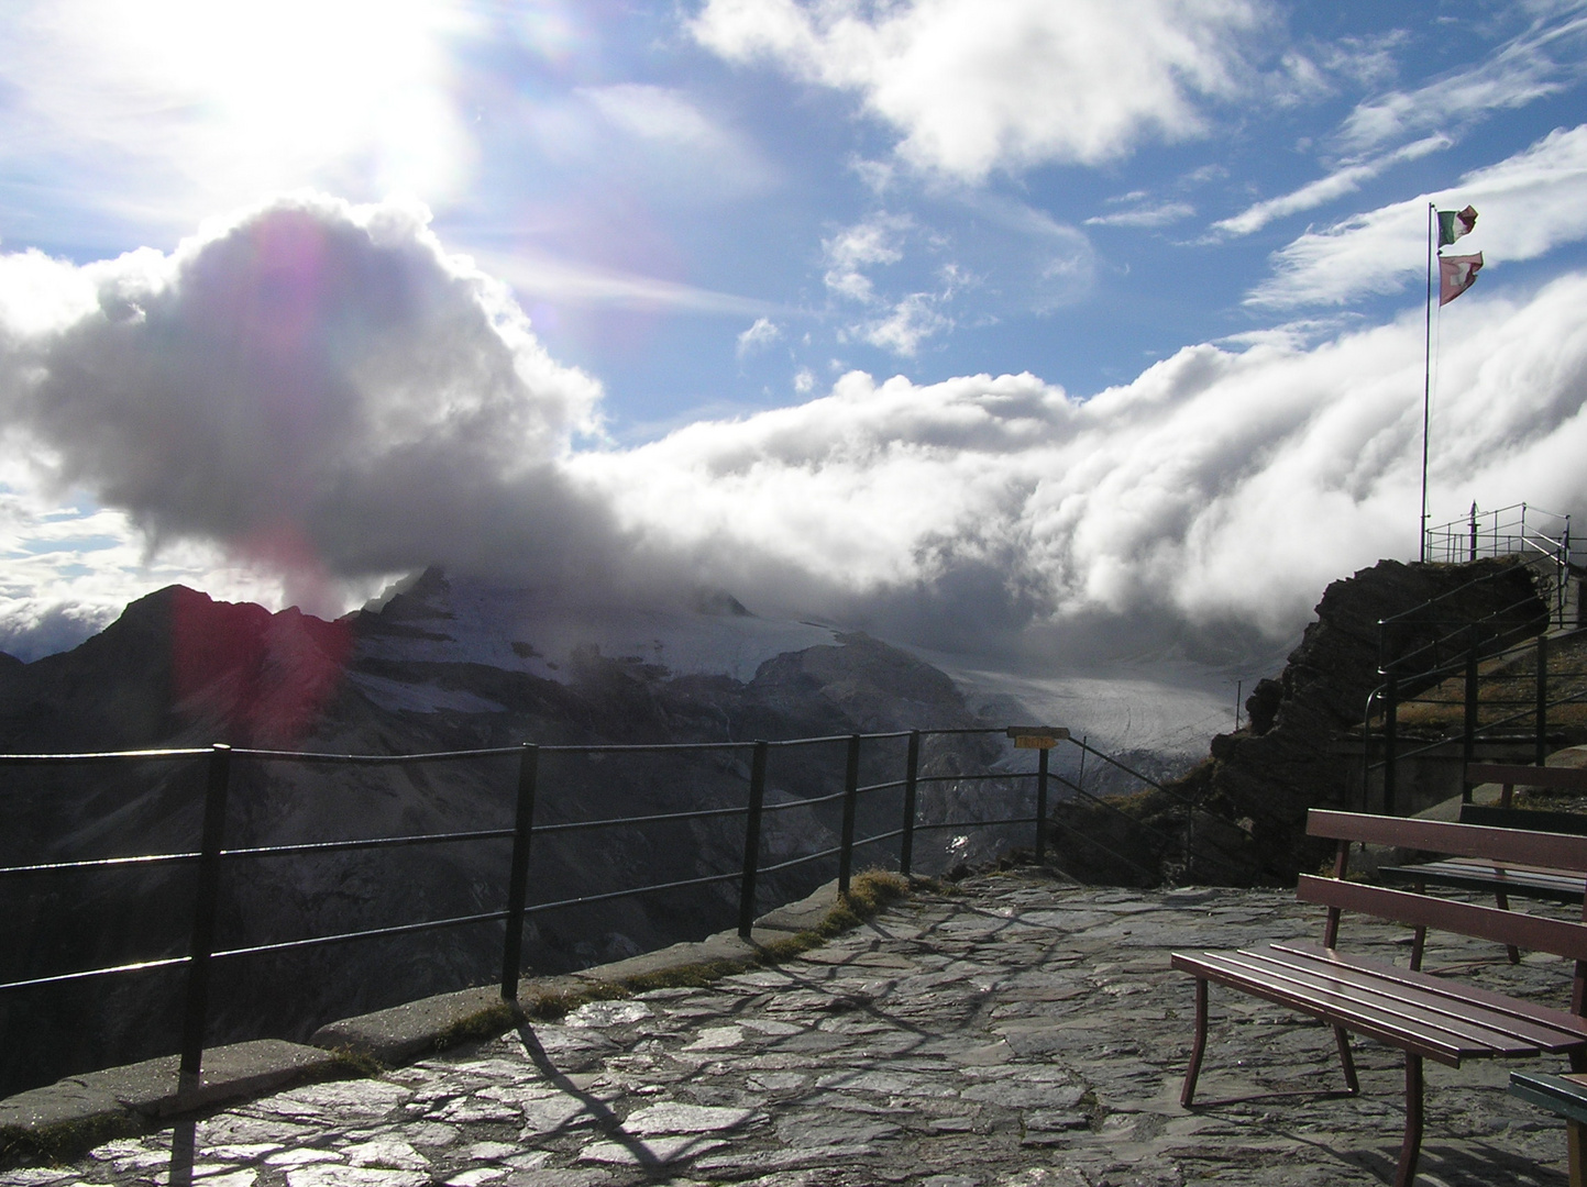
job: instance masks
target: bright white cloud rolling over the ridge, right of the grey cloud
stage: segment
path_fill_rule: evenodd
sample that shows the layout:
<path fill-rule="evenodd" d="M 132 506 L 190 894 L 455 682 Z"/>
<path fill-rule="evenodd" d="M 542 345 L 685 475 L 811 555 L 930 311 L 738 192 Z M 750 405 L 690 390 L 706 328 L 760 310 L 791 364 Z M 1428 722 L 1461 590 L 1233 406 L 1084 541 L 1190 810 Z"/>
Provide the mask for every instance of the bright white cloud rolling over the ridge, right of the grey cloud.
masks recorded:
<path fill-rule="evenodd" d="M 1582 509 L 1587 275 L 1527 305 L 1466 300 L 1435 403 L 1435 517 L 1473 498 Z M 1282 640 L 1328 581 L 1414 555 L 1420 370 L 1408 316 L 1312 349 L 1187 348 L 1084 401 L 1030 375 L 851 373 L 797 408 L 570 465 L 752 606 L 1057 651 Z"/>

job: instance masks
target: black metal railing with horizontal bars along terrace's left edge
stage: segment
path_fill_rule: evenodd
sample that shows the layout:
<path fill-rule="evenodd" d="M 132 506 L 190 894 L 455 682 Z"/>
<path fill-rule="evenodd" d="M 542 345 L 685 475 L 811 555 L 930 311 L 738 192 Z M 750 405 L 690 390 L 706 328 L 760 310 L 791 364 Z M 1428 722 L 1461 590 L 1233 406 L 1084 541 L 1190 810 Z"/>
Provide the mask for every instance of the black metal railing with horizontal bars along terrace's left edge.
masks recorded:
<path fill-rule="evenodd" d="M 1035 825 L 1035 854 L 1038 860 L 1043 860 L 1047 841 L 1047 787 L 1049 787 L 1049 766 L 1047 766 L 1047 751 L 1039 751 L 1038 768 L 1035 771 L 997 771 L 989 770 L 986 773 L 973 774 L 922 774 L 920 771 L 920 743 L 922 738 L 946 736 L 946 735 L 1001 735 L 1005 730 L 992 728 L 976 728 L 976 730 L 913 730 L 913 732 L 892 732 L 892 733 L 867 733 L 867 735 L 835 735 L 830 738 L 800 738 L 790 741 L 741 741 L 741 743 L 681 743 L 681 744 L 655 744 L 655 746 L 625 746 L 625 744 L 608 744 L 608 746 L 536 746 L 532 743 L 522 746 L 505 746 L 505 747 L 486 747 L 476 751 L 444 751 L 432 754 L 406 754 L 406 755 L 355 755 L 355 754 L 319 754 L 319 752 L 300 752 L 300 751 L 265 751 L 265 749 L 233 749 L 224 744 L 214 744 L 209 747 L 187 747 L 187 749 L 160 749 L 160 751 L 127 751 L 113 754 L 32 754 L 32 755 L 0 755 L 0 768 L 11 766 L 81 766 L 81 765 L 119 765 L 119 763 L 203 763 L 205 765 L 205 792 L 203 792 L 203 809 L 200 822 L 200 841 L 198 847 L 194 851 L 183 852 L 157 852 L 157 854 L 138 854 L 130 857 L 103 857 L 78 862 L 48 862 L 35 865 L 13 865 L 0 868 L 0 881 L 11 879 L 35 879 L 35 878 L 51 878 L 51 876 L 78 876 L 89 871 L 102 870 L 151 870 L 160 866 L 189 866 L 195 868 L 197 878 L 192 892 L 192 917 L 187 933 L 187 954 L 186 955 L 165 955 L 148 960 L 132 960 L 121 962 L 114 965 L 106 965 L 100 968 L 73 970 L 68 973 L 52 973 L 46 976 L 30 976 L 19 981 L 10 981 L 0 984 L 0 992 L 6 990 L 25 990 L 25 989 L 44 989 L 51 985 L 67 985 L 71 982 L 83 982 L 92 978 L 106 976 L 127 976 L 144 973 L 160 968 L 176 968 L 186 966 L 186 990 L 183 993 L 183 1011 L 181 1011 L 181 1074 L 184 1082 L 189 1078 L 197 1078 L 203 1065 L 203 1051 L 206 1043 L 208 1020 L 211 1017 L 211 968 L 217 962 L 241 960 L 248 957 L 259 957 L 265 954 L 282 954 L 292 951 L 325 947 L 333 944 L 348 944 L 354 941 L 370 939 L 376 936 L 402 936 L 414 935 L 421 932 L 436 932 L 444 928 L 463 928 L 478 927 L 484 924 L 503 924 L 505 938 L 501 944 L 501 974 L 500 974 L 500 992 L 505 1001 L 513 1001 L 517 997 L 519 976 L 522 968 L 522 943 L 524 943 L 524 925 L 532 916 L 567 909 L 573 906 L 601 903 L 617 898 L 632 898 L 640 895 L 660 893 L 667 890 L 681 890 L 689 887 L 706 887 L 719 884 L 738 884 L 738 933 L 741 936 L 751 935 L 751 927 L 755 917 L 755 895 L 757 882 L 760 876 L 771 874 L 784 870 L 792 870 L 795 866 L 808 865 L 813 862 L 838 859 L 838 889 L 846 893 L 851 885 L 854 871 L 854 854 L 859 849 L 882 844 L 886 841 L 898 839 L 898 866 L 901 873 L 908 874 L 913 871 L 914 863 L 914 841 L 916 835 L 927 830 L 938 828 L 986 828 L 986 827 L 1009 827 L 1009 825 Z M 906 739 L 905 768 L 898 779 L 889 779 L 882 782 L 862 784 L 860 782 L 860 757 L 862 746 L 865 743 L 887 741 L 887 739 Z M 833 744 L 843 743 L 846 746 L 844 752 L 844 779 L 843 790 L 830 795 L 819 795 L 813 798 L 790 798 L 784 803 L 767 803 L 767 766 L 768 755 L 773 749 L 790 749 L 813 744 Z M 1114 762 L 1111 757 L 1095 751 L 1084 743 L 1074 743 L 1082 746 L 1086 752 L 1097 755 L 1106 762 Z M 536 797 L 541 790 L 541 759 L 548 754 L 584 754 L 584 755 L 605 755 L 605 754 L 655 754 L 655 752 L 747 752 L 749 755 L 749 793 L 747 801 L 741 806 L 727 808 L 703 808 L 692 811 L 674 811 L 674 812 L 657 812 L 649 816 L 622 816 L 622 817 L 603 817 L 592 820 L 570 820 L 557 824 L 536 824 L 535 806 Z M 390 765 L 414 765 L 414 763 L 451 763 L 462 760 L 479 760 L 479 759 L 516 759 L 516 778 L 513 787 L 513 827 L 509 828 L 479 828 L 465 832 L 448 832 L 448 833 L 432 833 L 432 835 L 402 835 L 402 836 L 376 836 L 376 838 L 360 838 L 360 839 L 329 839 L 329 841 L 308 841 L 298 844 L 270 844 L 270 846 L 249 846 L 249 847 L 227 847 L 225 846 L 225 827 L 227 827 L 227 801 L 233 782 L 233 766 L 238 760 L 252 760 L 260 763 L 309 763 L 309 765 L 332 765 L 332 766 L 390 766 Z M 1116 763 L 1122 766 L 1122 763 Z M 1124 768 L 1128 771 L 1128 768 Z M 1157 784 L 1146 776 L 1135 771 L 1136 778 L 1157 787 Z M 1060 778 L 1060 776 L 1051 776 Z M 987 820 L 938 820 L 938 822 L 920 822 L 919 820 L 919 797 L 922 792 L 922 784 L 965 784 L 974 781 L 1005 781 L 1016 782 L 1035 779 L 1036 782 L 1036 814 L 1035 816 L 1009 816 L 1000 819 Z M 1070 784 L 1063 779 L 1065 784 Z M 900 811 L 900 827 L 890 828 L 876 835 L 855 836 L 857 822 L 857 806 L 860 797 L 874 795 L 881 792 L 901 792 L 901 811 Z M 1095 798 L 1095 797 L 1089 797 Z M 1100 800 L 1098 800 L 1100 801 Z M 827 847 L 819 852 L 800 854 L 787 860 L 781 860 L 771 865 L 762 863 L 762 824 L 768 814 L 789 811 L 794 808 L 813 808 L 824 803 L 841 803 L 841 839 L 835 847 Z M 622 828 L 622 827 L 647 827 L 660 822 L 684 822 L 684 820 L 708 820 L 708 819 L 725 819 L 725 817 L 744 817 L 744 846 L 743 860 L 738 868 L 727 870 L 722 873 L 711 873 L 697 878 L 673 879 L 667 882 L 655 882 L 649 885 L 625 887 L 601 890 L 598 893 L 589 893 L 573 898 L 560 898 L 552 901 L 530 903 L 528 887 L 530 887 L 530 849 L 536 836 L 549 836 L 559 833 L 579 833 L 603 828 Z M 240 863 L 240 862 L 257 862 L 270 859 L 292 859 L 305 855 L 322 855 L 351 851 L 370 851 L 370 849 L 395 849 L 408 846 L 454 846 L 454 844 L 470 844 L 470 843 L 486 843 L 486 841 L 506 841 L 511 839 L 511 855 L 508 865 L 506 879 L 506 901 L 498 909 L 490 911 L 475 911 L 468 914 L 452 914 L 440 919 L 421 919 L 409 922 L 398 922 L 387 927 L 373 927 L 352 932 L 336 932 L 333 935 L 316 935 L 297 939 L 273 939 L 270 943 L 254 943 L 235 947 L 217 947 L 217 906 L 221 901 L 221 878 L 222 870 Z M 1189 841 L 1187 841 L 1189 844 Z"/>

